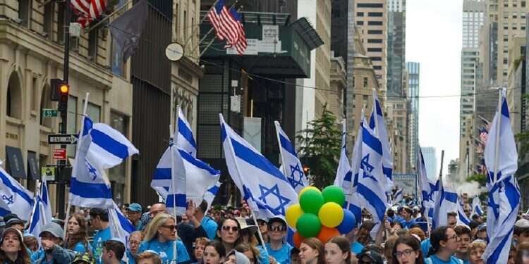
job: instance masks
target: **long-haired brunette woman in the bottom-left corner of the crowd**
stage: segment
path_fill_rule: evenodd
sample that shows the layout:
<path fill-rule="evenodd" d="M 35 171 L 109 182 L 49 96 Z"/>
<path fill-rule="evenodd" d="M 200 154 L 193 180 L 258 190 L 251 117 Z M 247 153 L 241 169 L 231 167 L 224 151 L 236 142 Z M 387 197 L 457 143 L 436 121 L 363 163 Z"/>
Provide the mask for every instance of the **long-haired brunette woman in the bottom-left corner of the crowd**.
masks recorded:
<path fill-rule="evenodd" d="M 30 264 L 28 249 L 23 243 L 22 232 L 8 227 L 1 234 L 0 262 L 2 264 Z"/>

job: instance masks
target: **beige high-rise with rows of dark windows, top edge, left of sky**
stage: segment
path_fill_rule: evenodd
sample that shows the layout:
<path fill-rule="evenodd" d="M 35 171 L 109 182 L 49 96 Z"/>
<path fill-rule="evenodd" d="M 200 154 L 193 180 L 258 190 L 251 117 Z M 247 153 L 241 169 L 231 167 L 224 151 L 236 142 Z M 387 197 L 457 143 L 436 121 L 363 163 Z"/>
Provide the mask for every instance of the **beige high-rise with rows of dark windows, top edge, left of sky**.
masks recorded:
<path fill-rule="evenodd" d="M 379 94 L 387 90 L 388 8 L 387 0 L 355 1 L 355 25 L 360 32 L 367 57 L 372 61 L 379 80 Z M 384 100 L 384 96 L 381 98 Z"/>

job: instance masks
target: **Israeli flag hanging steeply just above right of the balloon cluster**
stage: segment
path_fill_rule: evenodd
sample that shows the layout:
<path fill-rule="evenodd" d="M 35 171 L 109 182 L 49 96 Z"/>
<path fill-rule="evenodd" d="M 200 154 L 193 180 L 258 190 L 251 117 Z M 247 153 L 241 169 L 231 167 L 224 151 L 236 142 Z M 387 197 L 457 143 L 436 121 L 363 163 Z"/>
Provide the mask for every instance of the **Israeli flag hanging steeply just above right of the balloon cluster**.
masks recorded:
<path fill-rule="evenodd" d="M 382 142 L 375 132 L 367 127 L 362 118 L 362 160 L 358 172 L 357 191 L 363 197 L 363 206 L 373 216 L 375 227 L 370 234 L 376 238 L 378 230 L 384 225 L 384 214 L 389 205 L 387 204 L 386 191 L 384 189 L 384 175 L 382 172 Z"/>

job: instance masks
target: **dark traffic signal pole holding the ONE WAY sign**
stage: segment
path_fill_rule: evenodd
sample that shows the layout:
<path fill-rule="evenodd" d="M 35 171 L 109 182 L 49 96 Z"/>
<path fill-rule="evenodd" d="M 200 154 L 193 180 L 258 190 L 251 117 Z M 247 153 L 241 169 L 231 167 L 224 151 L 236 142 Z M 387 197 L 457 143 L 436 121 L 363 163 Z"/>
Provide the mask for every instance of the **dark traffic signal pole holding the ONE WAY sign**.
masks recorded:
<path fill-rule="evenodd" d="M 64 1 L 64 68 L 63 68 L 63 82 L 68 83 L 68 71 L 70 64 L 70 20 L 71 20 L 71 8 L 70 0 Z M 59 103 L 60 104 L 60 103 Z M 68 101 L 66 101 L 66 108 L 61 111 L 61 127 L 60 133 L 66 134 L 66 127 L 68 124 Z M 61 145 L 61 149 L 66 149 L 66 145 Z M 66 167 L 68 160 L 68 155 L 66 155 L 66 160 L 58 160 L 57 168 L 59 168 L 59 175 L 63 175 L 64 168 Z M 60 182 L 57 182 L 57 212 L 59 212 L 59 218 L 63 219 L 65 217 L 65 203 L 66 203 L 66 184 L 68 182 L 64 181 L 63 177 L 59 177 Z M 68 219 L 64 220 L 68 222 Z"/>

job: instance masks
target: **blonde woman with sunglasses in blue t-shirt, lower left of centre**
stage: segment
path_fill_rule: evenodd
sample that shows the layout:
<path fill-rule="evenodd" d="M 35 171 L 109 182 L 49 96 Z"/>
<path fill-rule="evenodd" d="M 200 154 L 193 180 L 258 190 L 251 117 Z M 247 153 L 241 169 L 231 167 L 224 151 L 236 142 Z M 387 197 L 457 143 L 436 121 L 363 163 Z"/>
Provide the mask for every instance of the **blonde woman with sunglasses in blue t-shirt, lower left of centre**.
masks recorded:
<path fill-rule="evenodd" d="M 176 243 L 176 263 L 191 263 L 186 246 L 176 237 L 176 228 L 172 215 L 157 214 L 147 226 L 138 252 L 152 250 L 159 253 L 162 263 L 166 263 L 174 260 L 173 246 Z"/>

